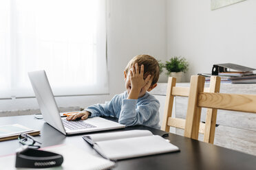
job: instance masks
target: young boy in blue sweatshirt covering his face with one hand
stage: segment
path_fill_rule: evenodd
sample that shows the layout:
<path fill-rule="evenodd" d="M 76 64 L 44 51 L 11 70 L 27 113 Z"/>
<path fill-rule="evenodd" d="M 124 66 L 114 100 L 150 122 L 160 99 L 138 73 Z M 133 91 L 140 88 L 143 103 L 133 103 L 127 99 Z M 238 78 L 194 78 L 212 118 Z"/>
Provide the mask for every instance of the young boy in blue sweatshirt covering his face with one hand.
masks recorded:
<path fill-rule="evenodd" d="M 68 121 L 88 117 L 116 117 L 127 126 L 147 125 L 160 128 L 159 101 L 147 93 L 157 86 L 159 78 L 158 61 L 149 55 L 138 55 L 125 68 L 126 91 L 115 95 L 107 104 L 96 104 L 67 117 Z"/>

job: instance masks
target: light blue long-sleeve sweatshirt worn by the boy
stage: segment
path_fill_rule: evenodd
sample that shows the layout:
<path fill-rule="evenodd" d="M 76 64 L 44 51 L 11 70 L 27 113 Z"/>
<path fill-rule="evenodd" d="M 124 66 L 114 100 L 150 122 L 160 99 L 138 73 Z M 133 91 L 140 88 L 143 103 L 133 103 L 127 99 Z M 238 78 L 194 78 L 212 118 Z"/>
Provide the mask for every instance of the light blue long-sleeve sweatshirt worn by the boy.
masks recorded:
<path fill-rule="evenodd" d="M 145 93 L 139 99 L 127 99 L 127 91 L 115 95 L 106 104 L 95 104 L 89 106 L 90 117 L 116 117 L 118 122 L 127 126 L 147 125 L 160 129 L 159 125 L 159 101 Z"/>

